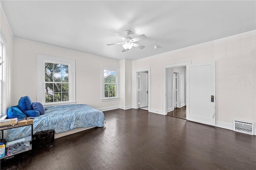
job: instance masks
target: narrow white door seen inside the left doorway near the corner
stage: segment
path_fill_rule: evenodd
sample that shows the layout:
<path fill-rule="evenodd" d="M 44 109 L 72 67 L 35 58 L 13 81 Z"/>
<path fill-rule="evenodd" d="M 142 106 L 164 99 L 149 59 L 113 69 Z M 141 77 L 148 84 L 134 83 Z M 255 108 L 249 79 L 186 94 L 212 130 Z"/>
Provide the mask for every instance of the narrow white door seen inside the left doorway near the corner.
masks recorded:
<path fill-rule="evenodd" d="M 139 108 L 148 106 L 148 73 L 139 73 Z"/>

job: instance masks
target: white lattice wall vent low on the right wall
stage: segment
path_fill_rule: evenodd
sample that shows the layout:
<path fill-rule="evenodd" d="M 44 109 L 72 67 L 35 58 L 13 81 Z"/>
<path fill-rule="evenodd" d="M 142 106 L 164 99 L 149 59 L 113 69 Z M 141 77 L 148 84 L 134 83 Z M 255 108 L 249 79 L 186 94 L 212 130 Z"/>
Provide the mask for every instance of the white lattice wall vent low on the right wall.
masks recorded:
<path fill-rule="evenodd" d="M 233 120 L 233 131 L 254 135 L 254 122 Z"/>

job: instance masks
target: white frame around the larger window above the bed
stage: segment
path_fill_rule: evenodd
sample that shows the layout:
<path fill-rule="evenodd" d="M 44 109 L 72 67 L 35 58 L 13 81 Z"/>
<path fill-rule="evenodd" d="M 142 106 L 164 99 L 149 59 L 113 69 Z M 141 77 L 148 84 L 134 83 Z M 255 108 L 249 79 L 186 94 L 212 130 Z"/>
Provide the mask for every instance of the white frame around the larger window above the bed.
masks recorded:
<path fill-rule="evenodd" d="M 68 65 L 68 88 L 69 88 L 69 101 L 65 102 L 45 102 L 45 63 L 56 63 Z M 75 84 L 75 61 L 70 59 L 64 59 L 60 57 L 53 57 L 49 55 L 37 54 L 37 101 L 44 106 L 56 106 L 64 104 L 76 103 L 76 84 Z"/>

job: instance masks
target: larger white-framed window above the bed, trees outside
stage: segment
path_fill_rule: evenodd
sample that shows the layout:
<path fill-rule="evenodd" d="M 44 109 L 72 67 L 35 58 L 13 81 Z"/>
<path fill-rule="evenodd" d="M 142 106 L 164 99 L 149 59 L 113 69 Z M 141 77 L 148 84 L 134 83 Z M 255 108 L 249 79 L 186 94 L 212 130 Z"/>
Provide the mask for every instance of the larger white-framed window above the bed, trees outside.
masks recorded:
<path fill-rule="evenodd" d="M 37 55 L 37 64 L 38 102 L 44 105 L 75 103 L 75 61 Z"/>

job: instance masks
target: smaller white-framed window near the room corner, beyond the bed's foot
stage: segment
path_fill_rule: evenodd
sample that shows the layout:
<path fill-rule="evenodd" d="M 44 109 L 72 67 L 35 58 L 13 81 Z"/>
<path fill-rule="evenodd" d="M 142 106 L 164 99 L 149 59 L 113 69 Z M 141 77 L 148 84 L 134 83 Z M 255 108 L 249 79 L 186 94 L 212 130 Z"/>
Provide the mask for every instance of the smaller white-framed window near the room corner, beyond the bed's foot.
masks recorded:
<path fill-rule="evenodd" d="M 118 68 L 102 66 L 102 101 L 119 100 Z"/>

